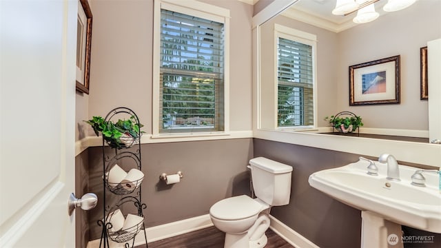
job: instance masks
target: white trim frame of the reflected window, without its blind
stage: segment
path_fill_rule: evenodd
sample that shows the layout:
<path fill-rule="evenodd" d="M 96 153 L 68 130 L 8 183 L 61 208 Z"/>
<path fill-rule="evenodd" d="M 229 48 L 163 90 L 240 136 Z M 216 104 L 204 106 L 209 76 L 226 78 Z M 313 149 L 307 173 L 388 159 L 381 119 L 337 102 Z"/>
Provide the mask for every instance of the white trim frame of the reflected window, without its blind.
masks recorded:
<path fill-rule="evenodd" d="M 305 126 L 284 126 L 278 127 L 278 39 L 289 39 L 305 45 L 311 45 L 312 48 L 312 97 L 313 97 L 313 125 Z M 315 130 L 317 128 L 317 36 L 289 28 L 284 25 L 274 24 L 274 128 L 276 130 Z"/>

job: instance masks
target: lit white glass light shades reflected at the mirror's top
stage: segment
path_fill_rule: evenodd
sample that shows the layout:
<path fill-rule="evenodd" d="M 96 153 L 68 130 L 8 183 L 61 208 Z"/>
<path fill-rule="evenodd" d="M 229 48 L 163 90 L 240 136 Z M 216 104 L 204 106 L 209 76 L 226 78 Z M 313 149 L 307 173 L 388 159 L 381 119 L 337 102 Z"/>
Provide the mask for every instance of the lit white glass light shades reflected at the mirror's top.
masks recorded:
<path fill-rule="evenodd" d="M 355 23 L 367 23 L 377 19 L 380 14 L 375 11 L 375 5 L 380 0 L 337 0 L 336 8 L 332 14 L 347 16 L 357 11 L 357 16 L 353 18 Z M 383 10 L 393 12 L 411 6 L 417 0 L 388 0 Z"/>

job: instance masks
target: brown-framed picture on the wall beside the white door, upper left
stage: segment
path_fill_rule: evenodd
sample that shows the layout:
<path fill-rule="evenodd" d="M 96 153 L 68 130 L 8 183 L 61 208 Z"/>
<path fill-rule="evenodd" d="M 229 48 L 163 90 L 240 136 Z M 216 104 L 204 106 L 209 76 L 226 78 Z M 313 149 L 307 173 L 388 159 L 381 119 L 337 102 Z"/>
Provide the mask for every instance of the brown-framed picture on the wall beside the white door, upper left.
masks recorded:
<path fill-rule="evenodd" d="M 76 90 L 89 94 L 92 10 L 88 0 L 79 0 L 76 30 Z"/>

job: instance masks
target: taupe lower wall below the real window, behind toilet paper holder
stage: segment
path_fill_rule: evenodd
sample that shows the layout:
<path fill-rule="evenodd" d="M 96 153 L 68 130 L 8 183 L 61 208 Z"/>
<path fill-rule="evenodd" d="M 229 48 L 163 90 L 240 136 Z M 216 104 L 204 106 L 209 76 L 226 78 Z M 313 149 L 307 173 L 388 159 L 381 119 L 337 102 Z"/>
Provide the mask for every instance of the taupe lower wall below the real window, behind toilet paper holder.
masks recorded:
<path fill-rule="evenodd" d="M 101 147 L 88 149 L 89 190 L 103 198 L 103 159 Z M 109 156 L 114 150 L 106 147 Z M 218 200 L 249 194 L 247 165 L 253 156 L 252 138 L 218 141 L 192 141 L 141 145 L 142 171 L 145 174 L 141 198 L 147 205 L 143 211 L 145 227 L 171 223 L 208 214 Z M 118 163 L 129 169 L 127 163 Z M 184 174 L 180 183 L 165 185 L 159 180 L 163 172 Z M 107 203 L 119 198 L 106 194 Z M 103 216 L 103 202 L 89 211 L 90 240 L 100 238 L 96 221 Z M 112 206 L 111 206 L 112 207 Z M 126 214 L 126 213 L 125 213 Z"/>

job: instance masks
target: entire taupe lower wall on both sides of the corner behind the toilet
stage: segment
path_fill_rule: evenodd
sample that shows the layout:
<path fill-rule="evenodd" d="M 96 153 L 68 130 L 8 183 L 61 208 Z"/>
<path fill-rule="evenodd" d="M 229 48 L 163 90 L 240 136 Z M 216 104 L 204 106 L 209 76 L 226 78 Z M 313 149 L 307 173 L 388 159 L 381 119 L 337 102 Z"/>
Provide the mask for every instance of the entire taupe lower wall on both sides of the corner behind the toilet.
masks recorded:
<path fill-rule="evenodd" d="M 103 196 L 102 148 L 90 147 L 76 156 L 76 196 L 86 192 Z M 113 150 L 105 149 L 110 156 Z M 209 213 L 218 200 L 249 194 L 250 158 L 265 156 L 293 167 L 289 205 L 273 207 L 271 215 L 319 247 L 360 247 L 360 211 L 348 207 L 309 186 L 310 174 L 321 169 L 346 165 L 358 160 L 358 154 L 292 145 L 258 138 L 219 141 L 193 141 L 141 145 L 145 178 L 142 201 L 145 226 L 153 227 Z M 375 159 L 375 158 L 372 158 Z M 124 167 L 124 163 L 119 163 Z M 413 165 L 416 166 L 416 165 Z M 176 185 L 165 185 L 161 173 L 181 170 L 184 178 Z M 107 194 L 107 200 L 116 200 Z M 76 211 L 77 247 L 100 238 L 96 221 L 103 215 L 102 200 L 90 211 Z M 438 247 L 441 234 L 403 228 L 406 235 L 435 236 L 429 244 L 407 244 L 406 248 Z"/>

